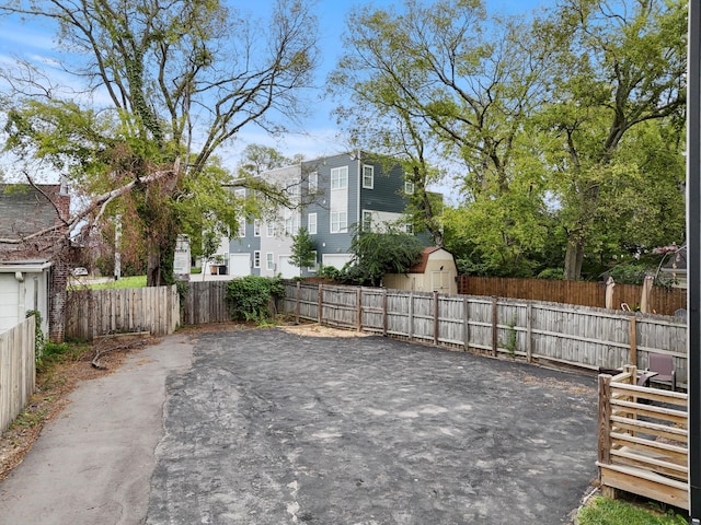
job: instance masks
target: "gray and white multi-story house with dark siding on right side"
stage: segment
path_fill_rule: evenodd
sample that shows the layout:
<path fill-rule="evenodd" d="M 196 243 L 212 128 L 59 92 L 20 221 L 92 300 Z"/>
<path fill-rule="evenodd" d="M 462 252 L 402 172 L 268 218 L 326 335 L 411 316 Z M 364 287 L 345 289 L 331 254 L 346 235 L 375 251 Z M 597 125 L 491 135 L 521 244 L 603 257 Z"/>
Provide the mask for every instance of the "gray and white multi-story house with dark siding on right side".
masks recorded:
<path fill-rule="evenodd" d="M 414 185 L 398 163 L 356 151 L 261 176 L 285 188 L 295 206 L 241 225 L 229 241 L 232 276 L 309 277 L 320 265 L 342 268 L 352 260 L 355 229 L 378 231 L 392 223 L 413 233 L 404 211 Z M 245 189 L 234 191 L 245 197 Z M 301 269 L 290 262 L 292 236 L 300 228 L 307 229 L 317 252 L 315 264 Z"/>

